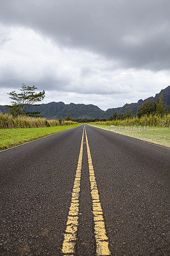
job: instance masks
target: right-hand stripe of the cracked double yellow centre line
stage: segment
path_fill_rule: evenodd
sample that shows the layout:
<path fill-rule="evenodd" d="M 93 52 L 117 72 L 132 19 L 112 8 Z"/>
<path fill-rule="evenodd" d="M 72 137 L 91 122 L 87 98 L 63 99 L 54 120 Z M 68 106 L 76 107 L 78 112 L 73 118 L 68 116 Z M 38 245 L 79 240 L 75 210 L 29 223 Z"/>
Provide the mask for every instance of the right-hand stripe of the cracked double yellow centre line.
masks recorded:
<path fill-rule="evenodd" d="M 97 182 L 92 164 L 92 157 L 90 154 L 89 142 L 87 132 L 85 130 L 85 138 L 87 144 L 87 155 L 89 162 L 89 176 L 90 176 L 90 192 L 92 196 L 92 209 L 94 214 L 94 234 L 96 239 L 96 255 L 111 255 L 109 250 L 108 237 L 106 236 L 106 229 L 103 219 L 103 210 L 99 199 L 99 192 L 97 189 Z"/>

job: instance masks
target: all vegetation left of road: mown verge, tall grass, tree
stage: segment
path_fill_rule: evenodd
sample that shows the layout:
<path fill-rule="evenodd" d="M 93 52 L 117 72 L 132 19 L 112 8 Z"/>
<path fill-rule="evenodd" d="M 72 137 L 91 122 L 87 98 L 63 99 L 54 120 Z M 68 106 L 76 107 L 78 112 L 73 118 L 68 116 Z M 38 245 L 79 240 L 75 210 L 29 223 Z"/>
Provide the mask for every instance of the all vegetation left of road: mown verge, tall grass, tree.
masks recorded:
<path fill-rule="evenodd" d="M 80 125 L 71 120 L 69 113 L 66 120 L 47 120 L 39 112 L 32 112 L 31 107 L 45 97 L 44 91 L 36 93 L 36 89 L 22 84 L 20 93 L 8 93 L 12 100 L 6 106 L 9 111 L 6 114 L 0 111 L 0 150 Z"/>

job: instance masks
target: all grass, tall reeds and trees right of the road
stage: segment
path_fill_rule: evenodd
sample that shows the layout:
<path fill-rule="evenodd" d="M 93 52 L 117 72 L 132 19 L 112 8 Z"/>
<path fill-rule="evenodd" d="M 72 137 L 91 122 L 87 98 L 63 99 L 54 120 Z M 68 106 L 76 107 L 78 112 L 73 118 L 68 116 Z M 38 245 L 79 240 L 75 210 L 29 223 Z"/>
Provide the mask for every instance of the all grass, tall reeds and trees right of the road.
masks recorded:
<path fill-rule="evenodd" d="M 109 120 L 89 122 L 90 125 L 117 132 L 139 140 L 170 147 L 170 115 L 164 106 L 163 96 L 157 102 L 146 100 L 133 116 L 131 109 L 125 113 L 113 113 Z"/>

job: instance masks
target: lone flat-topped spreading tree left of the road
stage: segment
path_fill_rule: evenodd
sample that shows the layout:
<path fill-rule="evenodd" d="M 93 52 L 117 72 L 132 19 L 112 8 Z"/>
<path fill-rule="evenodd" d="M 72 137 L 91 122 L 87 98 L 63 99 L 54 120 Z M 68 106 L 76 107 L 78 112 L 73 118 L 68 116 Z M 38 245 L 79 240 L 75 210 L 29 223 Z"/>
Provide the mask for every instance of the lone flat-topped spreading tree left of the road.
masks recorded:
<path fill-rule="evenodd" d="M 6 106 L 10 109 L 9 113 L 13 116 L 38 116 L 40 112 L 31 112 L 29 109 L 31 106 L 39 106 L 35 103 L 40 102 L 45 98 L 45 91 L 36 93 L 36 89 L 37 88 L 34 85 L 26 86 L 25 84 L 22 84 L 20 93 L 16 93 L 15 91 L 8 93 L 8 95 L 10 95 L 10 99 L 13 100 L 11 101 L 11 106 Z"/>

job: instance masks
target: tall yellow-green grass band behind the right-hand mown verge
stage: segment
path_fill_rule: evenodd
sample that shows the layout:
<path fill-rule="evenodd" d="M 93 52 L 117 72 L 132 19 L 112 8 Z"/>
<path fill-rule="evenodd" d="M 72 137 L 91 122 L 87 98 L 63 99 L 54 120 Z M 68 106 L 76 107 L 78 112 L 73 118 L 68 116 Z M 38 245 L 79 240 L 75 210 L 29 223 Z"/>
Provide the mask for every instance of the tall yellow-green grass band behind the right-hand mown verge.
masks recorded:
<path fill-rule="evenodd" d="M 170 115 L 150 115 L 150 116 L 142 116 L 138 118 L 138 116 L 134 118 L 126 118 L 124 120 L 113 120 L 106 122 L 93 122 L 90 124 L 101 124 L 101 125 L 142 125 L 142 126 L 157 126 L 157 127 L 169 127 L 170 126 Z"/>

